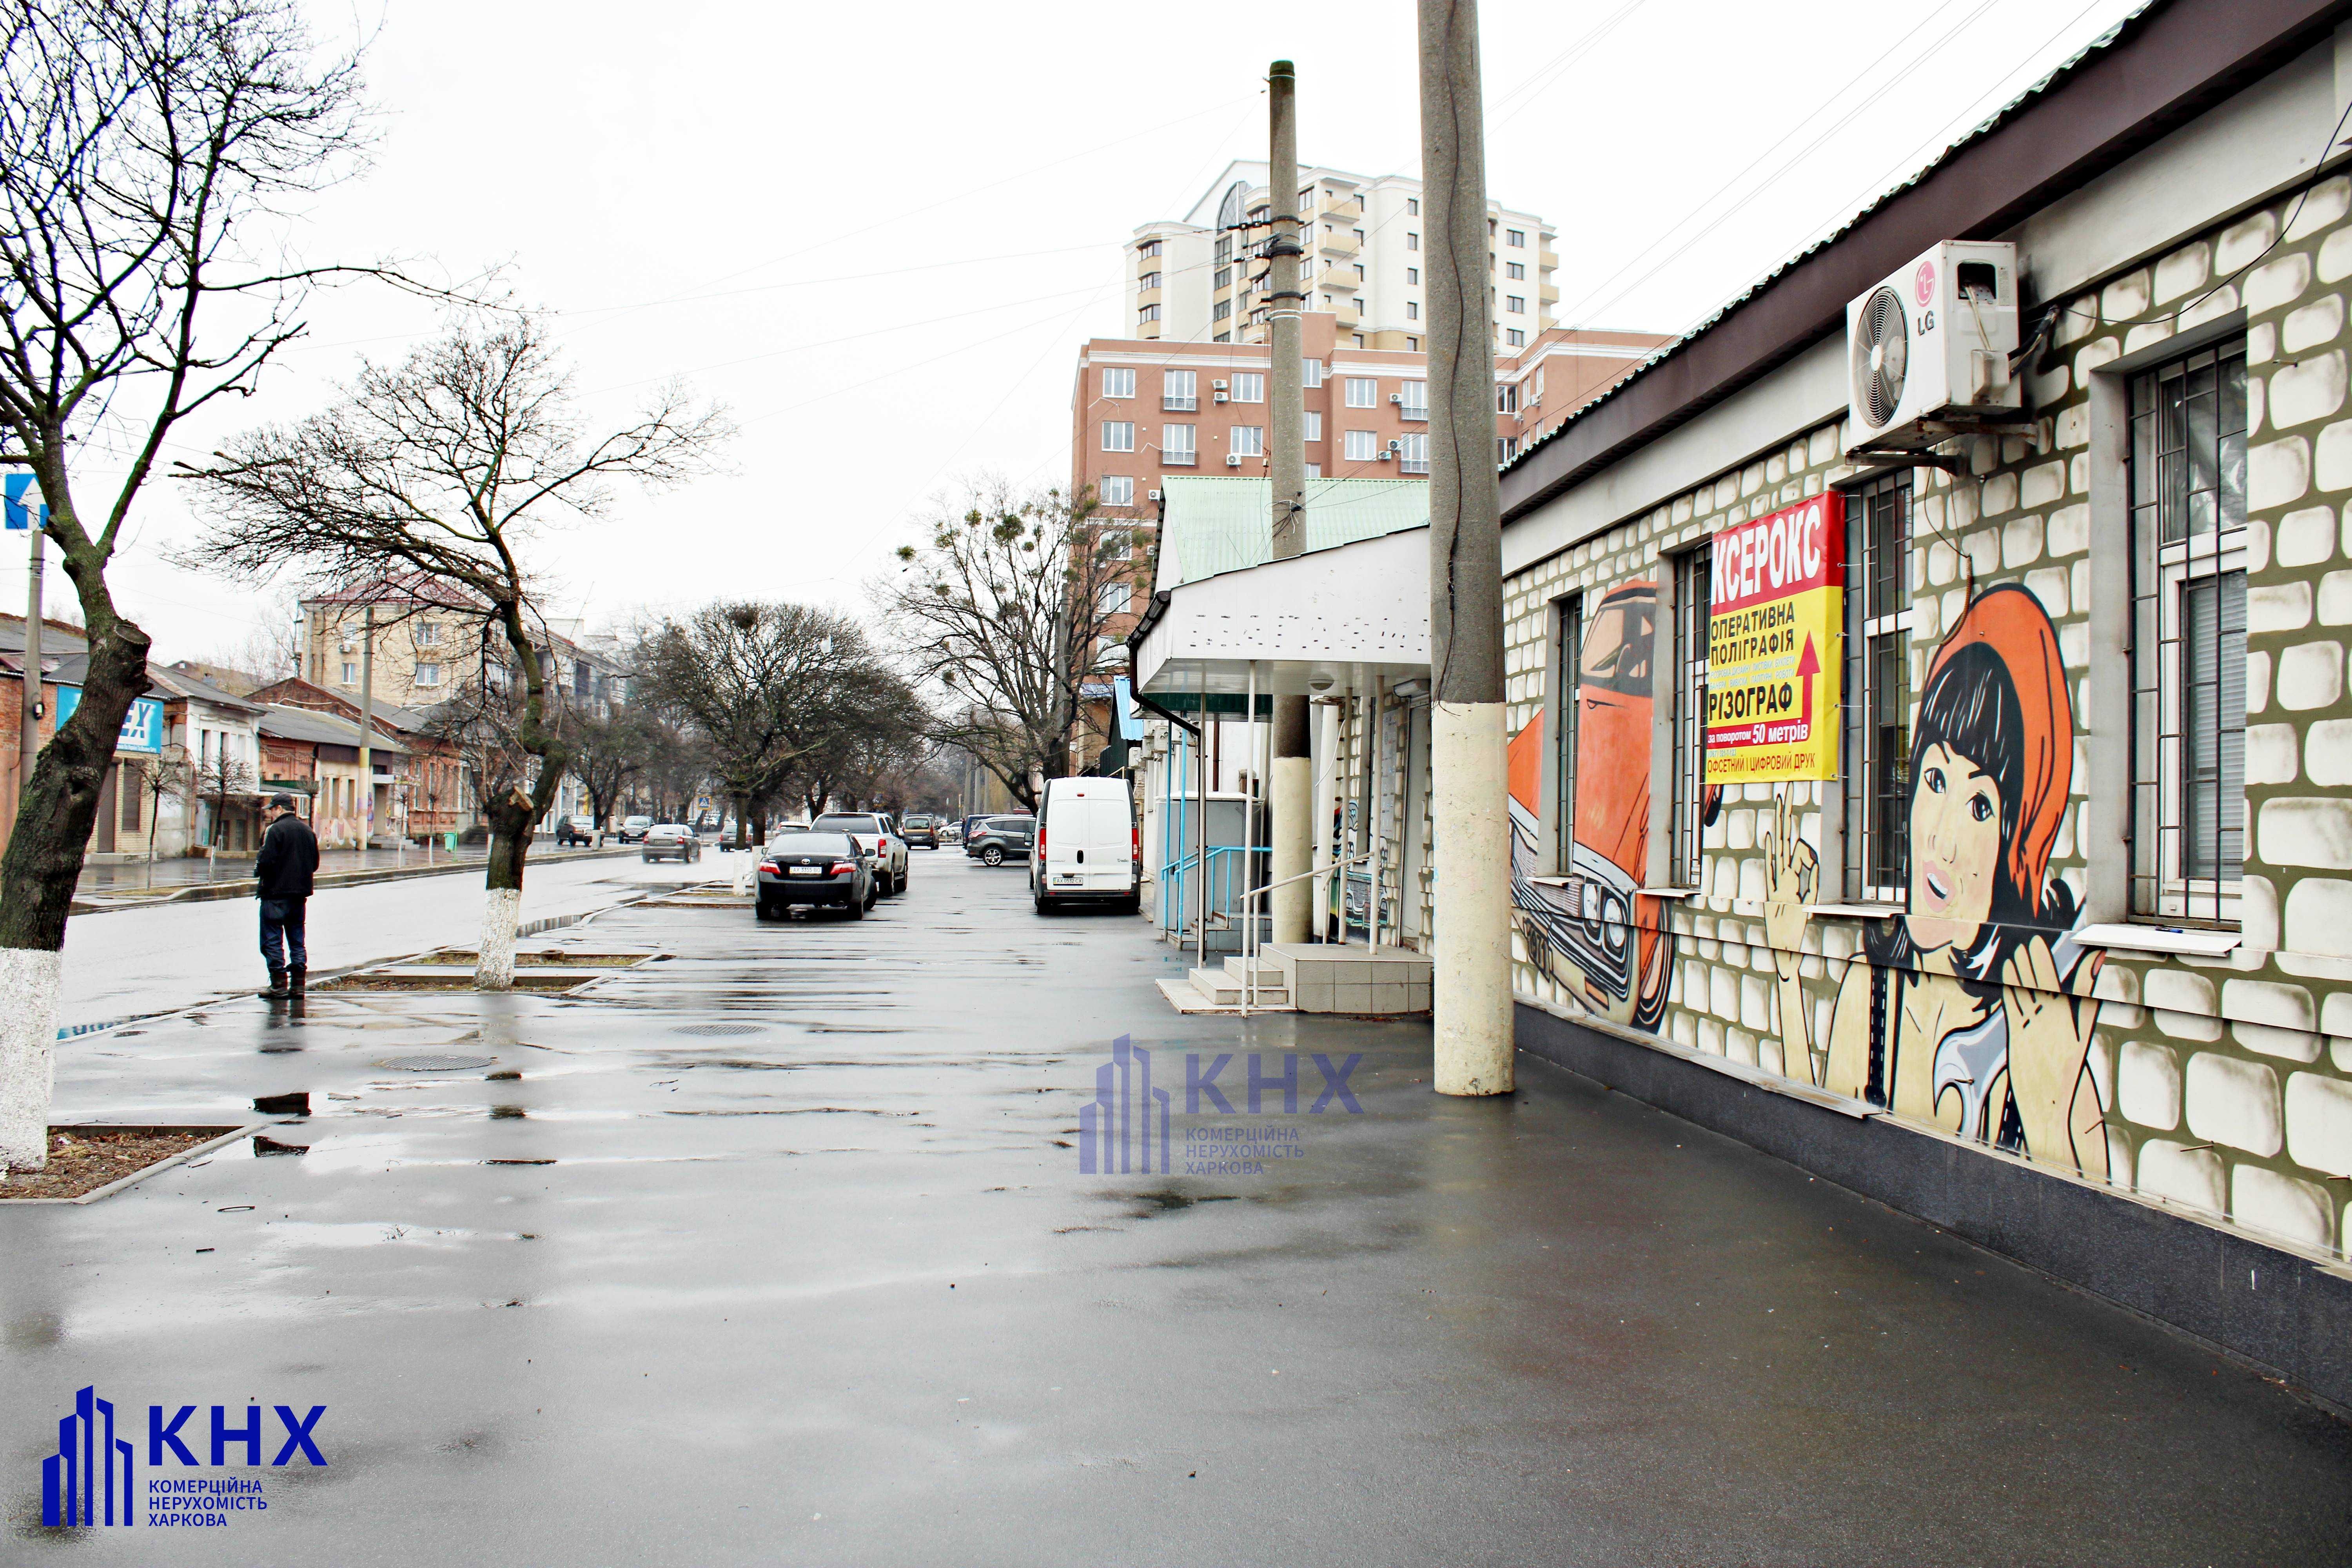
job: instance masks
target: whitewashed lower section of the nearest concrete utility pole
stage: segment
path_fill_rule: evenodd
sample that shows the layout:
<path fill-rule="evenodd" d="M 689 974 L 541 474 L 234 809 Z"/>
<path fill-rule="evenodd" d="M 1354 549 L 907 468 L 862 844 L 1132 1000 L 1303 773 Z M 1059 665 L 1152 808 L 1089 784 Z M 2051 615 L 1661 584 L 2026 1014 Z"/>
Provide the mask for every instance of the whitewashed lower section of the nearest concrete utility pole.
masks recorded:
<path fill-rule="evenodd" d="M 1430 703 L 1437 865 L 1437 1093 L 1515 1086 L 1510 1011 L 1510 750 L 1503 703 Z"/>

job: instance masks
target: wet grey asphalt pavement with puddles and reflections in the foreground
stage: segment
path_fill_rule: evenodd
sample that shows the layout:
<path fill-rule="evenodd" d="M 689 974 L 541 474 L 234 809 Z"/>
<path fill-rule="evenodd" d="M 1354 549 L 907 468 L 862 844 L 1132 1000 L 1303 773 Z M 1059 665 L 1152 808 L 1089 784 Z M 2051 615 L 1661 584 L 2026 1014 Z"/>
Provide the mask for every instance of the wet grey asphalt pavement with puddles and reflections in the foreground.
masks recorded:
<path fill-rule="evenodd" d="M 2352 1561 L 2352 1434 L 2260 1378 L 1548 1065 L 1439 1100 L 1421 1023 L 1178 1018 L 1141 922 L 1018 870 L 560 936 L 673 957 L 64 1051 L 68 1117 L 315 1114 L 0 1211 L 9 1561 Z M 1117 1034 L 1178 1164 L 1185 1053 L 1247 1107 L 1249 1051 L 1362 1051 L 1364 1114 L 1301 1060 L 1301 1114 L 1202 1119 L 1298 1150 L 1263 1175 L 1082 1175 Z M 419 1051 L 494 1065 L 379 1067 Z M 327 1467 L 45 1533 L 85 1382 L 141 1434 L 254 1399 L 273 1448 L 327 1406 Z"/>

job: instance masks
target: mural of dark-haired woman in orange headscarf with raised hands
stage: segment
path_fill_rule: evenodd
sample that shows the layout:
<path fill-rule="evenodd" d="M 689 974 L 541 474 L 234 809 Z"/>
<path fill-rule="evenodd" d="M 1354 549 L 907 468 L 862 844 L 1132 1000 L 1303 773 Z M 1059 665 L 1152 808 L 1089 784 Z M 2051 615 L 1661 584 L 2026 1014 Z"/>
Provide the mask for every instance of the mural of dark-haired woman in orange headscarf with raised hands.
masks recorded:
<path fill-rule="evenodd" d="M 2074 710 L 2058 632 L 2023 585 L 1978 595 L 1936 649 L 1910 764 L 1910 910 L 1867 931 L 1825 1039 L 1797 978 L 1820 867 L 1785 797 L 1766 827 L 1783 1070 L 2105 1178 L 2089 1070 L 2103 954 L 2074 943 L 2074 893 L 2049 875 Z"/>

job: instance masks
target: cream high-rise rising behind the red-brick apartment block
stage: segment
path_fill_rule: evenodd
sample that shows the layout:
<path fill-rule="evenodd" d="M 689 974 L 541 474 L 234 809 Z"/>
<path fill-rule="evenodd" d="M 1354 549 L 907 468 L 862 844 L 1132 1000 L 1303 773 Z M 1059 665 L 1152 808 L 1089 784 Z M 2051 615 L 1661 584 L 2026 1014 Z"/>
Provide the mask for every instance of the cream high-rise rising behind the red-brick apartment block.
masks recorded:
<path fill-rule="evenodd" d="M 1263 162 L 1232 162 L 1183 219 L 1136 228 L 1127 266 L 1127 320 L 1138 339 L 1263 343 L 1272 200 Z M 1348 348 L 1421 350 L 1421 181 L 1301 169 L 1298 266 L 1308 308 L 1331 315 Z M 1519 353 L 1552 327 L 1559 289 L 1555 233 L 1534 212 L 1489 202 L 1494 341 Z"/>

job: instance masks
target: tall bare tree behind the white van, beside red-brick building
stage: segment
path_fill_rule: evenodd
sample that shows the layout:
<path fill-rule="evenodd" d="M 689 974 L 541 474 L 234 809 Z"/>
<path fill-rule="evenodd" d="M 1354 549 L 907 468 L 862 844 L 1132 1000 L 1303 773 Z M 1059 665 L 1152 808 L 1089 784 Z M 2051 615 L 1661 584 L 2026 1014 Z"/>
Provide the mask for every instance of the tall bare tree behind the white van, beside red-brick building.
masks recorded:
<path fill-rule="evenodd" d="M 1033 809 L 1087 726 L 1084 684 L 1098 679 L 1134 571 L 1124 531 L 1094 512 L 1091 494 L 985 484 L 941 508 L 929 541 L 903 545 L 898 574 L 873 590 L 908 668 L 948 691 L 931 738 L 978 757 Z"/>

